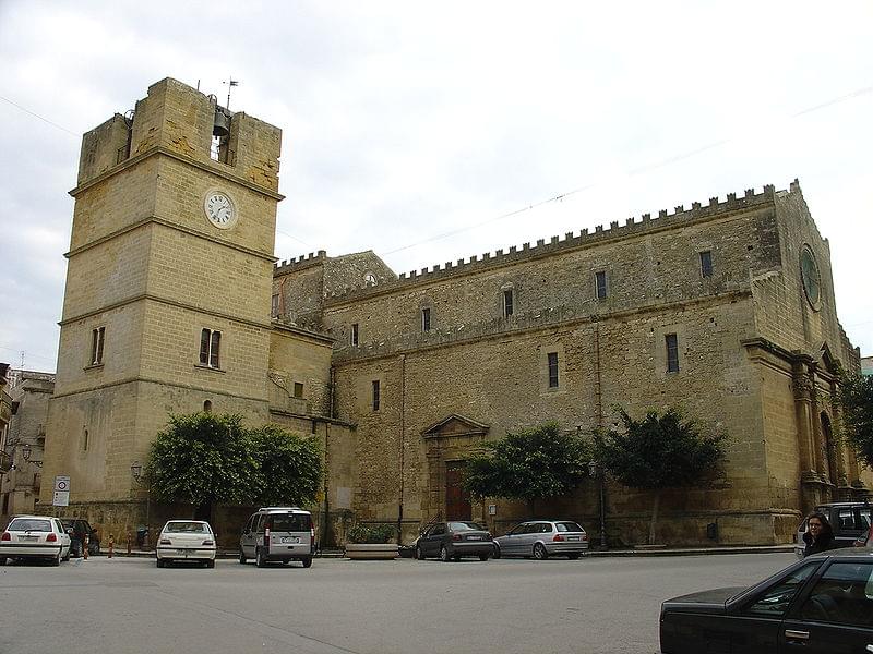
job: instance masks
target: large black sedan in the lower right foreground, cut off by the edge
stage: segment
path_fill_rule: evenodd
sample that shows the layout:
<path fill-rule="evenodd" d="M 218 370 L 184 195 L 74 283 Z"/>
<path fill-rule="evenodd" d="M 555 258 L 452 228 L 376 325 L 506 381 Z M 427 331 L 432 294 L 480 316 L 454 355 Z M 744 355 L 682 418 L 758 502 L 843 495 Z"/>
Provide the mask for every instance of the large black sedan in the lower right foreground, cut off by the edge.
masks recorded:
<path fill-rule="evenodd" d="M 749 589 L 661 606 L 662 654 L 873 652 L 873 549 L 805 558 Z"/>

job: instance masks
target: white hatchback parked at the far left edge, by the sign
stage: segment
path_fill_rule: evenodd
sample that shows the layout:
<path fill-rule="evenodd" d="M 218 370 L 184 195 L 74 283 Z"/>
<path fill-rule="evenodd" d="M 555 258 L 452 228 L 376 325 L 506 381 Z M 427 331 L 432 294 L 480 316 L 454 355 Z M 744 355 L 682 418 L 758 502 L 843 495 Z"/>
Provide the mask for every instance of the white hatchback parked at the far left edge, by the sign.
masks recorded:
<path fill-rule="evenodd" d="M 70 560 L 70 543 L 58 518 L 17 516 L 0 535 L 0 566 L 7 559 L 41 559 L 59 566 Z"/>

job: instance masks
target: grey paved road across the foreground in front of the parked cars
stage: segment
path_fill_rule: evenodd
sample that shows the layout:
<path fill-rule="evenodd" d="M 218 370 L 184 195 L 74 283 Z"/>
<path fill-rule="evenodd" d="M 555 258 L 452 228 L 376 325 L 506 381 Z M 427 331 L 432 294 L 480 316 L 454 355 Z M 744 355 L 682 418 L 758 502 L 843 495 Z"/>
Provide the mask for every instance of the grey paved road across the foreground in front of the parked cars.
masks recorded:
<path fill-rule="evenodd" d="M 156 569 L 92 557 L 0 568 L 0 652 L 658 651 L 661 601 L 743 585 L 790 554 L 348 561 Z"/>

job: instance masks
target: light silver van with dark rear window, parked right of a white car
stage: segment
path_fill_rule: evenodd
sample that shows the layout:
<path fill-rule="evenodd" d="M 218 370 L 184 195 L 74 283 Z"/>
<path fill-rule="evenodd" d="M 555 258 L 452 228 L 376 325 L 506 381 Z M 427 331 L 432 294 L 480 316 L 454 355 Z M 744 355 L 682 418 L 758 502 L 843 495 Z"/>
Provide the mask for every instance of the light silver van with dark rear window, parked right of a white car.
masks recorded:
<path fill-rule="evenodd" d="M 270 561 L 312 565 L 315 529 L 312 513 L 299 507 L 262 507 L 252 513 L 239 538 L 239 562 L 253 558 L 259 568 Z"/>

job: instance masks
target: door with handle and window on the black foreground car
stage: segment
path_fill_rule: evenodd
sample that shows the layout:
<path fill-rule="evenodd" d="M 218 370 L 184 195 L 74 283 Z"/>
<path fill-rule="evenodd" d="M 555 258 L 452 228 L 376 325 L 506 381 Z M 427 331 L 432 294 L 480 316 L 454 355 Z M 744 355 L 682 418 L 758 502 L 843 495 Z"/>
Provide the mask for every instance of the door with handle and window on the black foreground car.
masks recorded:
<path fill-rule="evenodd" d="M 832 559 L 789 611 L 779 654 L 873 652 L 873 561 Z"/>

